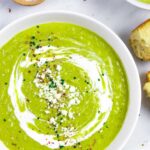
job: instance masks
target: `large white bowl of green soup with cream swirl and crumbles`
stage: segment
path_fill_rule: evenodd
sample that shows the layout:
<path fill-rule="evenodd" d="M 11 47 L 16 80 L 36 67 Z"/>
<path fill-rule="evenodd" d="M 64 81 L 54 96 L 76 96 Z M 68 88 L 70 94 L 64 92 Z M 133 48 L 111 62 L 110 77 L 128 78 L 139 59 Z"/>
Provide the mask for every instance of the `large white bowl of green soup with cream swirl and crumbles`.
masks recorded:
<path fill-rule="evenodd" d="M 72 12 L 43 12 L 0 31 L 0 149 L 118 150 L 141 103 L 121 39 Z"/>

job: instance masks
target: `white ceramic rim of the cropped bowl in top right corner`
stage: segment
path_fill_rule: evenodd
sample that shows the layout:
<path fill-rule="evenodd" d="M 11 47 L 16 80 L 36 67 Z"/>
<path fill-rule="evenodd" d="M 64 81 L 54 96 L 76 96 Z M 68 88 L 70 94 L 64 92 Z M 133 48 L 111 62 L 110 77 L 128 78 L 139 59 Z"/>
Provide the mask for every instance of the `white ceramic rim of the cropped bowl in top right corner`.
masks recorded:
<path fill-rule="evenodd" d="M 127 0 L 127 2 L 131 3 L 132 5 L 136 7 L 150 10 L 150 4 L 142 3 L 142 2 L 139 2 L 138 0 Z"/>

